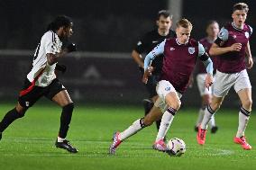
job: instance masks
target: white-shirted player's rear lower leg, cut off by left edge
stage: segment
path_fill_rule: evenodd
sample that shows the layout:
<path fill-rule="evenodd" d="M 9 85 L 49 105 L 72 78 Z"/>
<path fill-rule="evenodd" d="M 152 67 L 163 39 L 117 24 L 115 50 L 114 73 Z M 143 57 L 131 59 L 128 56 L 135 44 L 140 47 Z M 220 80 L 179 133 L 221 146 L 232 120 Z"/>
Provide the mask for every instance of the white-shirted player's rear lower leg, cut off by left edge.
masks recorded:
<path fill-rule="evenodd" d="M 5 114 L 5 117 L 0 122 L 0 140 L 2 139 L 3 131 L 16 119 L 22 118 L 26 111 L 27 108 L 24 108 L 20 103 L 17 103 L 14 109 Z"/>

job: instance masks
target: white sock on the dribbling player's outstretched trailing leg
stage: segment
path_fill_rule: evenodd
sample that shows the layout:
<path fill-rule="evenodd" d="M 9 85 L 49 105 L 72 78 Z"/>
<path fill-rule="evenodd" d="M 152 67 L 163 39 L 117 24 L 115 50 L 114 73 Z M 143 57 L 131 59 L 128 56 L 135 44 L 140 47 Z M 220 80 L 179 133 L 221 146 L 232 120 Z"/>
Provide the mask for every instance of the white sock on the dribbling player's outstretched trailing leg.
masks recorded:
<path fill-rule="evenodd" d="M 133 136 L 139 130 L 142 130 L 145 127 L 144 118 L 134 121 L 133 124 L 126 130 L 120 133 L 119 137 L 121 140 L 128 139 Z"/>

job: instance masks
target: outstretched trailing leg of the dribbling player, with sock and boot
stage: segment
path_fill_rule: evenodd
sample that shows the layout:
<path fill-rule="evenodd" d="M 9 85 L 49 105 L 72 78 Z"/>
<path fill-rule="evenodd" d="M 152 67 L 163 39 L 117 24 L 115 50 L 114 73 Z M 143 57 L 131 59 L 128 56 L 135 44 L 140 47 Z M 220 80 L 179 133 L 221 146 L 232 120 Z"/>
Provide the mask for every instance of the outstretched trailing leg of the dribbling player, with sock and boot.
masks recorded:
<path fill-rule="evenodd" d="M 162 113 L 160 112 L 160 109 L 153 106 L 149 114 L 147 114 L 144 118 L 134 121 L 133 124 L 126 130 L 123 130 L 123 132 L 115 132 L 113 142 L 109 147 L 109 154 L 114 154 L 116 148 L 123 142 L 124 139 L 128 139 L 143 128 L 151 126 L 151 124 L 154 121 L 159 120 L 161 116 Z"/>

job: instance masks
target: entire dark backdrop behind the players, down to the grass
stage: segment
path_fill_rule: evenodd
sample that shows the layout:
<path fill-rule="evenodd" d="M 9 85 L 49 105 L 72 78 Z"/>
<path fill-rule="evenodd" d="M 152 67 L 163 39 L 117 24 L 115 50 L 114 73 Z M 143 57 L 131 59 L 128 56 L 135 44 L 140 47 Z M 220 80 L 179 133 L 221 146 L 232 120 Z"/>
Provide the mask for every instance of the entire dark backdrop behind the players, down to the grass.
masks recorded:
<path fill-rule="evenodd" d="M 221 25 L 232 21 L 232 6 L 237 2 L 240 1 L 184 0 L 182 17 L 193 23 L 192 37 L 199 40 L 206 36 L 208 20 L 215 19 Z M 247 23 L 256 29 L 256 1 L 242 2 L 249 4 Z M 78 53 L 60 61 L 68 71 L 59 79 L 74 101 L 141 103 L 147 93 L 130 54 L 142 34 L 155 28 L 158 11 L 167 8 L 168 2 L 163 0 L 0 0 L 0 100 L 16 99 L 31 67 L 32 52 L 48 23 L 55 16 L 66 14 L 74 21 L 72 41 L 77 43 Z M 252 55 L 256 54 L 255 40 L 253 32 Z M 255 66 L 249 72 L 252 86 L 256 84 L 254 70 Z M 238 106 L 239 100 L 231 91 L 224 105 Z M 256 94 L 252 92 L 254 100 Z M 198 106 L 200 100 L 195 84 L 184 95 L 183 104 Z"/>

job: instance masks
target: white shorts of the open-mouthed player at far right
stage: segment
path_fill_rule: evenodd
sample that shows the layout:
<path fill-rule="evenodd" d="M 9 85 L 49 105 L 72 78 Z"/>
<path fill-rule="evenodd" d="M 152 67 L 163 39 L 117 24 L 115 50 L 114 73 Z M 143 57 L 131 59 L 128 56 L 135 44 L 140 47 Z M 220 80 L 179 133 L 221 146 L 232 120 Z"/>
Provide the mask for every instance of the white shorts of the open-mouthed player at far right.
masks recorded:
<path fill-rule="evenodd" d="M 227 74 L 217 70 L 215 75 L 214 95 L 224 97 L 233 86 L 235 92 L 245 88 L 251 88 L 251 83 L 246 69 L 239 73 Z"/>

